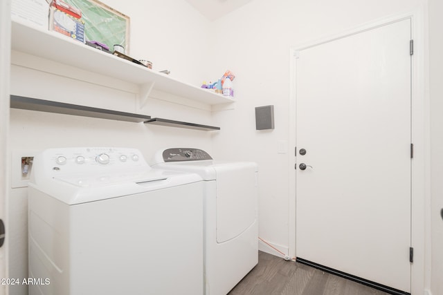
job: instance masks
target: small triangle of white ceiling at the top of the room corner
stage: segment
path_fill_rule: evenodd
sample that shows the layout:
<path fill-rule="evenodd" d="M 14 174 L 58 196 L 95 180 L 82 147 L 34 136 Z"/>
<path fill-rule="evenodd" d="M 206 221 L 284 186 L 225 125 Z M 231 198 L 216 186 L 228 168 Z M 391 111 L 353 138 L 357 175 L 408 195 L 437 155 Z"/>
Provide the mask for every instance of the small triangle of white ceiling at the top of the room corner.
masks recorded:
<path fill-rule="evenodd" d="M 186 0 L 210 21 L 227 15 L 253 0 Z"/>

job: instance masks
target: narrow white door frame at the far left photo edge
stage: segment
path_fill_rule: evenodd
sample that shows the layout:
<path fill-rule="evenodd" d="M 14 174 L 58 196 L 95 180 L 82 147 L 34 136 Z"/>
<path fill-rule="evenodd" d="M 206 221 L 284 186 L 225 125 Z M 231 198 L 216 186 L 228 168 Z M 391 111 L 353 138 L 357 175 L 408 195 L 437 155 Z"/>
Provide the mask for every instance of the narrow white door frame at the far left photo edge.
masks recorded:
<path fill-rule="evenodd" d="M 0 1 L 0 218 L 8 235 L 7 202 L 9 182 L 9 106 L 10 106 L 10 36 L 11 0 Z M 6 237 L 7 238 L 7 237 Z M 0 248 L 0 278 L 8 278 L 8 240 Z M 0 285 L 0 295 L 8 294 L 8 286 Z"/>

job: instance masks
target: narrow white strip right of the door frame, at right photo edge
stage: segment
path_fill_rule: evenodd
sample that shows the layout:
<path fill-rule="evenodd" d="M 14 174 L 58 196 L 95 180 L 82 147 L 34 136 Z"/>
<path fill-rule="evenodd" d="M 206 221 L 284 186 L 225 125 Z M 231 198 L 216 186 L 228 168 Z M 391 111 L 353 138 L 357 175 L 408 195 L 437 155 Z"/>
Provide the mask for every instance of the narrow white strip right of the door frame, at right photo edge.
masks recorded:
<path fill-rule="evenodd" d="M 443 3 L 429 0 L 429 93 L 431 98 L 431 290 L 443 294 Z"/>

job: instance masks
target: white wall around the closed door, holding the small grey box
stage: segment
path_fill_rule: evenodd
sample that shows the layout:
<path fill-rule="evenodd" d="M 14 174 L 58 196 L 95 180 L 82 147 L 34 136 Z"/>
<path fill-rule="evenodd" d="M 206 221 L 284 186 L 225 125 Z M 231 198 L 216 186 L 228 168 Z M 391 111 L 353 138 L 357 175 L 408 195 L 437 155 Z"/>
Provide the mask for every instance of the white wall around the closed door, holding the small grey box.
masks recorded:
<path fill-rule="evenodd" d="M 213 42 L 213 55 L 217 59 L 214 70 L 220 73 L 230 69 L 237 75 L 234 81 L 236 109 L 217 114 L 225 132 L 215 136 L 215 151 L 218 155 L 259 163 L 260 236 L 274 246 L 287 249 L 293 242 L 291 233 L 288 233 L 291 222 L 288 187 L 292 181 L 287 173 L 293 146 L 288 147 L 286 155 L 278 153 L 279 142 L 287 141 L 289 136 L 289 48 L 390 15 L 426 8 L 427 3 L 426 0 L 282 0 L 272 3 L 255 0 L 215 21 L 214 32 L 217 35 Z M 424 243 L 425 251 L 432 249 L 432 256 L 424 253 L 424 259 L 427 262 L 431 260 L 431 265 L 425 265 L 423 276 L 425 287 L 431 287 L 433 294 L 443 294 L 443 222 L 440 218 L 443 207 L 442 5 L 442 1 L 429 0 L 432 200 L 431 204 L 426 201 L 431 208 L 426 207 L 425 211 L 431 212 L 431 221 L 426 225 L 432 225 L 432 229 L 426 227 Z M 426 17 L 427 11 L 424 14 Z M 255 131 L 254 108 L 268 104 L 275 106 L 275 130 Z M 426 179 L 429 181 L 429 178 Z M 427 198 L 424 193 L 424 198 Z M 430 231 L 432 240 L 428 236 Z M 276 253 L 271 249 L 268 251 Z M 431 279 L 428 278 L 430 269 Z"/>

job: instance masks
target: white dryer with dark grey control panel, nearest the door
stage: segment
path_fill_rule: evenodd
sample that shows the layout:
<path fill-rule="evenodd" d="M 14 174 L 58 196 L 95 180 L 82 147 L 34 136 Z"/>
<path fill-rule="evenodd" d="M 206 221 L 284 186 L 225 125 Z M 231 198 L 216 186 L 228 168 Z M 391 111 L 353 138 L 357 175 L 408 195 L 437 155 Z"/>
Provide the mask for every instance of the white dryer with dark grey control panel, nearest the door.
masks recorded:
<path fill-rule="evenodd" d="M 258 263 L 257 164 L 200 149 L 162 149 L 150 164 L 203 178 L 206 295 L 226 295 Z"/>

